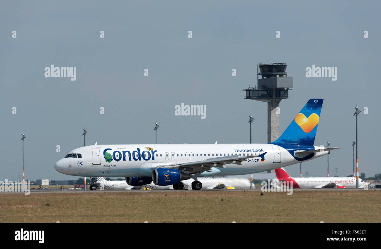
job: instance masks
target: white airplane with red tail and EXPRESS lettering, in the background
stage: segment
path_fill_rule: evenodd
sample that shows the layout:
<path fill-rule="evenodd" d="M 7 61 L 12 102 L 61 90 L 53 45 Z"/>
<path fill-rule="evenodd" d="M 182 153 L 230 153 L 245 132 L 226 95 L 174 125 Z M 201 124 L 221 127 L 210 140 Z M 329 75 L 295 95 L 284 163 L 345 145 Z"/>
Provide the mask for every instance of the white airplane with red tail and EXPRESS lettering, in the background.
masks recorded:
<path fill-rule="evenodd" d="M 293 188 L 356 188 L 356 177 L 295 177 L 292 178 L 285 169 L 275 169 L 279 182 L 292 182 Z M 359 178 L 359 188 L 369 185 Z"/>

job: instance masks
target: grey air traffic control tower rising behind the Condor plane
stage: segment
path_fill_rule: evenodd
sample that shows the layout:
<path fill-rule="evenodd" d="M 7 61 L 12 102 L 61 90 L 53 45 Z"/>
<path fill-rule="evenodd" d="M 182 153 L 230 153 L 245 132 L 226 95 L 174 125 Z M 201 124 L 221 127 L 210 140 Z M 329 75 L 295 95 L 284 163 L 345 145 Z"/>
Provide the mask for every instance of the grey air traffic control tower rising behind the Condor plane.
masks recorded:
<path fill-rule="evenodd" d="M 293 77 L 288 77 L 285 63 L 258 64 L 257 87 L 244 89 L 245 99 L 267 102 L 267 142 L 279 138 L 279 113 L 282 99 L 288 99 L 288 90 L 293 87 Z M 262 78 L 259 78 L 262 76 Z"/>

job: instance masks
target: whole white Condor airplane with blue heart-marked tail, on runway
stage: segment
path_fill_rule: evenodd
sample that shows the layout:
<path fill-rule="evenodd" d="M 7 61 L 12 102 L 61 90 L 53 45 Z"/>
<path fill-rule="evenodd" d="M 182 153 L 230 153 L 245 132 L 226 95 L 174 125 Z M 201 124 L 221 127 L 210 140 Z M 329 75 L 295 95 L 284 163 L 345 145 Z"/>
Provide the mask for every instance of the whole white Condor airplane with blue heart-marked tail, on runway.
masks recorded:
<path fill-rule="evenodd" d="M 200 190 L 202 176 L 252 174 L 318 158 L 337 148 L 314 146 L 323 99 L 310 99 L 279 139 L 269 144 L 130 144 L 94 145 L 72 150 L 54 164 L 71 176 L 126 177 L 133 186 L 153 182 L 184 188 L 183 180 L 194 179 Z"/>

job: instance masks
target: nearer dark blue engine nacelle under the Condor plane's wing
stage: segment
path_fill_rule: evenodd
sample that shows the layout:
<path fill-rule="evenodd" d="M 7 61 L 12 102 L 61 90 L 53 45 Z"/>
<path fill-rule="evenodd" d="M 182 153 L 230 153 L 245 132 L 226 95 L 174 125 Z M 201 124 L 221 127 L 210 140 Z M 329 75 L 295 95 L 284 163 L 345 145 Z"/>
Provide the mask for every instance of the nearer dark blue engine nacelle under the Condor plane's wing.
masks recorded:
<path fill-rule="evenodd" d="M 155 185 L 159 186 L 168 186 L 188 179 L 191 179 L 191 175 L 178 169 L 154 169 L 152 171 L 152 180 Z"/>

